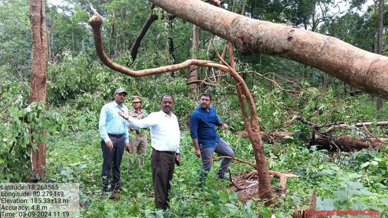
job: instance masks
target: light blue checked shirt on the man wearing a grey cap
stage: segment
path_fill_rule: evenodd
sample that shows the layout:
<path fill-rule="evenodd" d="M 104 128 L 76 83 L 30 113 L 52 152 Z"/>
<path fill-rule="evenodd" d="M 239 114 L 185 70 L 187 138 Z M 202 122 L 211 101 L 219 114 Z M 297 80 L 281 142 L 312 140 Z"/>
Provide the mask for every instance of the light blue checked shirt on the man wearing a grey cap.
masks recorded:
<path fill-rule="evenodd" d="M 128 114 L 128 108 L 124 104 L 119 106 L 114 101 L 105 104 L 101 109 L 98 131 L 105 143 L 110 141 L 108 133 L 115 135 L 124 134 L 125 143 L 129 143 L 127 121 L 119 115 L 120 109 L 124 109 Z"/>

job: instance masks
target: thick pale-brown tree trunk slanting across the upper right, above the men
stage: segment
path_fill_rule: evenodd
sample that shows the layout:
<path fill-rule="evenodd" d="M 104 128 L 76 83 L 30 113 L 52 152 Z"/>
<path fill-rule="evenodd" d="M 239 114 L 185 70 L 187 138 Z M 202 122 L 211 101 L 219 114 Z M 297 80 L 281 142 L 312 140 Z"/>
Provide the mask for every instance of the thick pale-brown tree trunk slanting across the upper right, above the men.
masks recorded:
<path fill-rule="evenodd" d="M 199 0 L 150 0 L 244 53 L 260 52 L 305 63 L 372 95 L 388 99 L 388 57 L 292 26 L 254 20 Z M 211 20 L 211 21 L 209 21 Z"/>

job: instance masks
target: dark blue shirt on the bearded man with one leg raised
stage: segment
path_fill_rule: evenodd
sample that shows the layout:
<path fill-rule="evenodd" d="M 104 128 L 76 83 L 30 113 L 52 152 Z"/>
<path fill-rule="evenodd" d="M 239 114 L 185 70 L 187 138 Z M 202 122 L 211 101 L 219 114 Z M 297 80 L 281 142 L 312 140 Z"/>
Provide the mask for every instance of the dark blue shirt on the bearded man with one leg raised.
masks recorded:
<path fill-rule="evenodd" d="M 218 143 L 220 140 L 216 132 L 218 123 L 222 123 L 222 121 L 212 106 L 208 107 L 208 111 L 199 106 L 192 112 L 190 135 L 192 138 L 198 138 L 199 147 L 213 147 Z"/>

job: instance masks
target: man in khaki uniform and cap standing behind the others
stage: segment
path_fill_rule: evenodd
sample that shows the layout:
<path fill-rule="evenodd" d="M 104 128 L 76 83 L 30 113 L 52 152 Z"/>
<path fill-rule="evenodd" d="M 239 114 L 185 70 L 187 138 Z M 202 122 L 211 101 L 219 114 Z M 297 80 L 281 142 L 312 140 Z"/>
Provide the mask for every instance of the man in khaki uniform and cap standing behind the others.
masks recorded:
<path fill-rule="evenodd" d="M 132 98 L 133 108 L 128 112 L 128 115 L 134 119 L 143 119 L 148 114 L 147 111 L 141 109 L 141 97 Z M 129 157 L 129 165 L 134 163 L 134 156 L 141 155 L 138 158 L 139 167 L 143 168 L 144 166 L 144 157 L 146 157 L 146 147 L 147 147 L 147 134 L 142 129 L 133 129 L 130 128 L 131 133 L 135 133 L 135 138 L 132 138 L 129 142 L 129 152 L 131 152 L 131 157 Z M 132 156 L 133 155 L 133 156 Z"/>

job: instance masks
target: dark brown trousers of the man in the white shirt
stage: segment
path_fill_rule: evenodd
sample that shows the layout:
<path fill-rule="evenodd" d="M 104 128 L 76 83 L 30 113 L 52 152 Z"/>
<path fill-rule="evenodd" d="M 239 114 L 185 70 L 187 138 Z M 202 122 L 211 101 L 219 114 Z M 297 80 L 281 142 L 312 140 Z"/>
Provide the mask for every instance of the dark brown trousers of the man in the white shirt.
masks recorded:
<path fill-rule="evenodd" d="M 168 191 L 175 168 L 175 152 L 160 152 L 152 150 L 151 155 L 153 191 L 155 193 L 155 207 L 167 209 L 170 207 Z"/>

